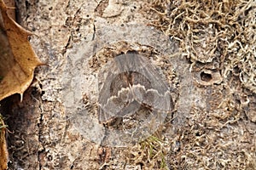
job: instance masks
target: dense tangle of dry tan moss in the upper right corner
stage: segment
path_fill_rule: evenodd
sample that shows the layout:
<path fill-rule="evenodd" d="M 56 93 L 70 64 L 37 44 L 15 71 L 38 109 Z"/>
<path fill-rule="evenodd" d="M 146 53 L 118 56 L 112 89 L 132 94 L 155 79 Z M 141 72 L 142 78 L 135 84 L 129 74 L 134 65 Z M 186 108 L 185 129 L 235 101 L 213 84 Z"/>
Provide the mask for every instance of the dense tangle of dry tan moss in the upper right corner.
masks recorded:
<path fill-rule="evenodd" d="M 160 0 L 149 6 L 151 24 L 178 40 L 183 56 L 193 63 L 217 60 L 223 77 L 237 75 L 256 93 L 255 1 Z"/>

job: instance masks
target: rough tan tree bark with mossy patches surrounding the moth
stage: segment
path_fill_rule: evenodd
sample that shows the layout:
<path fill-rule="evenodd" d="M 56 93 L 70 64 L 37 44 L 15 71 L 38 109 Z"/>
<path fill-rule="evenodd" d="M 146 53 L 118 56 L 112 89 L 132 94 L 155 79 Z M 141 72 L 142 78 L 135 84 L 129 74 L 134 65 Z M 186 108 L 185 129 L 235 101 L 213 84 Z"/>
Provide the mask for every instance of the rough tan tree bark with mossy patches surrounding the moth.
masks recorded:
<path fill-rule="evenodd" d="M 3 101 L 9 168 L 255 169 L 255 2 L 185 2 L 17 0 L 47 65 L 22 103 Z M 175 110 L 121 146 L 96 126 L 98 77 L 130 52 L 165 77 Z"/>

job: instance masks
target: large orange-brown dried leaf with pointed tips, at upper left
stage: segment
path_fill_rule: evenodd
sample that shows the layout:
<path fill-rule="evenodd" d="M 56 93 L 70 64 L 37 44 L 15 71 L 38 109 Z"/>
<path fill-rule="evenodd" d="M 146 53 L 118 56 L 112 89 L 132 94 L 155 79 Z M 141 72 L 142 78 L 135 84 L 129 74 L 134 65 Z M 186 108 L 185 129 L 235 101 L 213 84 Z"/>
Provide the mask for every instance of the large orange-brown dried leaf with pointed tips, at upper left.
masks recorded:
<path fill-rule="evenodd" d="M 7 9 L 0 0 L 0 100 L 12 94 L 20 94 L 22 99 L 35 68 L 43 65 L 27 39 L 32 33 L 15 23 Z"/>

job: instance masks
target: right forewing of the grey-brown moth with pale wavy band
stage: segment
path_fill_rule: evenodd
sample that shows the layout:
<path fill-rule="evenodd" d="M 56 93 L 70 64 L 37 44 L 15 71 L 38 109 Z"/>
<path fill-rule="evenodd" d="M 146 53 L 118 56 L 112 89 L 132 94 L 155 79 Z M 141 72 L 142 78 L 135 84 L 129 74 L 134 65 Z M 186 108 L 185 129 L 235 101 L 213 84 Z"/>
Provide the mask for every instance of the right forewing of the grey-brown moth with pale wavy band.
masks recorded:
<path fill-rule="evenodd" d="M 172 96 L 163 75 L 143 56 L 132 54 L 130 57 L 129 67 L 135 71 L 132 74 L 132 94 L 137 101 L 151 106 L 155 111 L 172 111 Z"/>

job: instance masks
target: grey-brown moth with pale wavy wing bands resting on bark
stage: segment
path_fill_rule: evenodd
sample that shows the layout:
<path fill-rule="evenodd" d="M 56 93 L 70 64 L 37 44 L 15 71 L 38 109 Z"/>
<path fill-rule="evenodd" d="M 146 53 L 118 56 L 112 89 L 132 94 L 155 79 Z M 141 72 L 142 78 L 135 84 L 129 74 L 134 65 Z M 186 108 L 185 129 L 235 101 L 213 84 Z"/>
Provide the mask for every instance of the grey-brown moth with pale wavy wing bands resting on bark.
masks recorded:
<path fill-rule="evenodd" d="M 116 56 L 98 77 L 100 123 L 135 114 L 140 107 L 165 113 L 173 110 L 168 83 L 140 54 Z"/>

